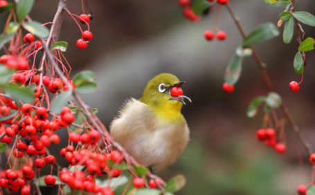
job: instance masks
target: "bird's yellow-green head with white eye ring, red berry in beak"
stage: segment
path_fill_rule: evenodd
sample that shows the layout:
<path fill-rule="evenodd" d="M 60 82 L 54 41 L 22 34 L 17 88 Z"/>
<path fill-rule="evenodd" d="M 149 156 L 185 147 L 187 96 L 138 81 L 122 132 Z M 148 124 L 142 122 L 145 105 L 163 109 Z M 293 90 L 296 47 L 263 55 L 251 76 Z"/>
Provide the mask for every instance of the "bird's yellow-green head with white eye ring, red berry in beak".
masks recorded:
<path fill-rule="evenodd" d="M 183 83 L 175 75 L 161 73 L 147 83 L 139 100 L 150 106 L 161 120 L 180 122 L 183 120 L 181 116 L 181 107 L 185 104 L 183 98 L 191 102 L 189 97 L 182 95 L 179 88 Z"/>

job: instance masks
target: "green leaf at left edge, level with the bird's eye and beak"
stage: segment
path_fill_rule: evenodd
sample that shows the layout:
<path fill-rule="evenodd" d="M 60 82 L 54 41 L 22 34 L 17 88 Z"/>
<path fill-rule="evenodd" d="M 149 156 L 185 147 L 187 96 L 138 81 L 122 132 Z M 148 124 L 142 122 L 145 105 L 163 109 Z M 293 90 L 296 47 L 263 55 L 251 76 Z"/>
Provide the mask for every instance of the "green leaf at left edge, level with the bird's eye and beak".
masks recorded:
<path fill-rule="evenodd" d="M 27 88 L 20 88 L 16 84 L 9 83 L 8 85 L 0 86 L 3 91 L 6 91 L 6 94 L 12 97 L 15 100 L 15 103 L 30 103 L 34 100 L 33 91 Z"/>

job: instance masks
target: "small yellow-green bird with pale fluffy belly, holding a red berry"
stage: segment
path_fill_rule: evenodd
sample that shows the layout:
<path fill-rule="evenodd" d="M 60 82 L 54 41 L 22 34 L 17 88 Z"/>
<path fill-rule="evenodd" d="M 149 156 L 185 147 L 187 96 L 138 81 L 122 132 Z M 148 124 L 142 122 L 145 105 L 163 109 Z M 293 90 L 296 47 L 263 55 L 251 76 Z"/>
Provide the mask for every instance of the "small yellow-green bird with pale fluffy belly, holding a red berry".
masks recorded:
<path fill-rule="evenodd" d="M 138 163 L 159 171 L 179 158 L 189 141 L 189 128 L 181 114 L 183 81 L 169 73 L 156 75 L 148 82 L 139 100 L 130 98 L 110 133 Z"/>

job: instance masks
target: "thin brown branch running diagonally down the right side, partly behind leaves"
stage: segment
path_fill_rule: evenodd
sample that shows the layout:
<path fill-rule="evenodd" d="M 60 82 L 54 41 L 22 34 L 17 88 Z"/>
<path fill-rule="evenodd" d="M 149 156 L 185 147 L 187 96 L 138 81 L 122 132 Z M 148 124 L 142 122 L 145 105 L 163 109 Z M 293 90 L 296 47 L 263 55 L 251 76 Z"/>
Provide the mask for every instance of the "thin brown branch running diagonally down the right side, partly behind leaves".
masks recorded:
<path fill-rule="evenodd" d="M 292 5 L 294 4 L 294 0 L 292 0 Z M 242 28 L 242 26 L 240 25 L 240 21 L 239 19 L 237 19 L 237 17 L 235 16 L 232 8 L 230 5 L 228 5 L 228 3 L 226 3 L 226 8 L 228 8 L 228 12 L 230 12 L 231 17 L 233 18 L 233 20 L 235 21 L 235 24 L 238 28 L 238 30 L 240 30 L 240 33 L 243 37 L 243 39 L 246 37 L 246 34 Z M 300 35 L 298 33 L 298 35 Z M 300 36 L 298 36 L 300 37 Z M 298 38 L 300 39 L 300 38 Z M 260 59 L 258 53 L 256 52 L 256 50 L 251 46 L 250 47 L 251 50 L 253 51 L 253 57 L 255 58 L 255 61 L 257 62 L 258 66 L 260 67 L 260 71 L 262 71 L 262 76 L 264 77 L 264 81 L 267 83 L 267 86 L 269 88 L 270 91 L 276 92 L 276 90 L 273 88 L 273 84 L 270 80 L 270 77 L 267 73 L 267 69 L 266 69 L 266 64 L 264 64 L 262 62 L 262 60 Z M 310 147 L 309 143 L 306 142 L 305 140 L 303 140 L 303 138 L 300 136 L 300 129 L 298 128 L 298 126 L 296 125 L 296 123 L 294 122 L 294 120 L 291 118 L 291 115 L 289 114 L 289 111 L 287 109 L 287 106 L 285 106 L 285 103 L 282 103 L 280 105 L 280 108 L 282 109 L 285 118 L 287 118 L 291 128 L 294 130 L 294 132 L 296 133 L 296 138 L 298 138 L 298 141 L 303 145 L 303 147 L 305 148 L 305 150 L 307 151 L 308 155 L 312 154 L 312 148 Z"/>

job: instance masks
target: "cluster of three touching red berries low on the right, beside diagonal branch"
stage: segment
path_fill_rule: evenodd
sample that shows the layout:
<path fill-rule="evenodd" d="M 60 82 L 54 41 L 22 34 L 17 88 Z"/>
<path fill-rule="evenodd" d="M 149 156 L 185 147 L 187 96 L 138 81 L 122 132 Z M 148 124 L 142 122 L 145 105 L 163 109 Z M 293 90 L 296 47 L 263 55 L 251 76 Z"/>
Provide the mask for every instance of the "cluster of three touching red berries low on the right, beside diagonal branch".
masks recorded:
<path fill-rule="evenodd" d="M 278 154 L 283 154 L 287 150 L 284 143 L 278 142 L 276 139 L 276 131 L 272 128 L 258 129 L 256 131 L 256 139 L 264 142 L 265 145 L 273 147 Z"/>

